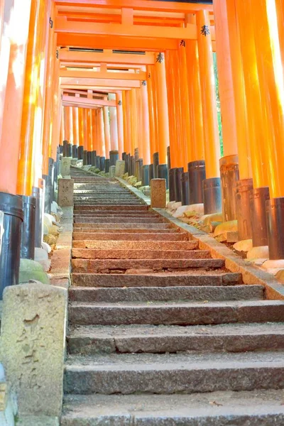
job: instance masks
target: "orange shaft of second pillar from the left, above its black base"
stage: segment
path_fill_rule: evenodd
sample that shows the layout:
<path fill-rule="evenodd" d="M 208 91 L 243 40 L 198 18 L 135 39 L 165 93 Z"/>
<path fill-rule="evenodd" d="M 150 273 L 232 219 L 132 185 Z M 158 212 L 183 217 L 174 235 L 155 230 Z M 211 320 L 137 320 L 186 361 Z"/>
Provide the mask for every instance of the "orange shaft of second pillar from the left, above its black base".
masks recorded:
<path fill-rule="evenodd" d="M 18 162 L 17 193 L 31 195 L 33 186 L 33 131 L 38 97 L 40 48 L 43 35 L 45 1 L 31 1 L 31 17 L 26 60 L 26 81 L 21 121 L 21 154 Z"/>

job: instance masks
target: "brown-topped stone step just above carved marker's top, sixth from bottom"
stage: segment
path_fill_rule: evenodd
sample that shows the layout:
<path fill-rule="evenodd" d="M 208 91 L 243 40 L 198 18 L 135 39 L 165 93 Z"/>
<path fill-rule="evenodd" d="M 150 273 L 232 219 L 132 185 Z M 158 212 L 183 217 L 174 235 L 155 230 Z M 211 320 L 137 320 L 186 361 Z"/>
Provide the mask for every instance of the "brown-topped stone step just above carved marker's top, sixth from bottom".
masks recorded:
<path fill-rule="evenodd" d="M 100 273 L 72 273 L 72 285 L 77 287 L 175 287 L 175 286 L 200 286 L 200 285 L 239 285 L 241 283 L 240 273 L 223 273 L 222 270 L 207 271 L 200 274 L 200 271 L 190 271 L 190 273 L 145 273 L 138 270 L 133 273 L 100 274 Z"/>

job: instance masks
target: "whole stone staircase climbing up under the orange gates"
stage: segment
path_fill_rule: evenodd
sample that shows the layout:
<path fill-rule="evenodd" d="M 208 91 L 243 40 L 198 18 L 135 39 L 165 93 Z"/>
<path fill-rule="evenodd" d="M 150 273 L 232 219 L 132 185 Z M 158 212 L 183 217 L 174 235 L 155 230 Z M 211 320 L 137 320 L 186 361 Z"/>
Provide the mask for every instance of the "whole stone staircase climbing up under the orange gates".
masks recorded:
<path fill-rule="evenodd" d="M 62 426 L 284 425 L 284 302 L 72 169 Z"/>

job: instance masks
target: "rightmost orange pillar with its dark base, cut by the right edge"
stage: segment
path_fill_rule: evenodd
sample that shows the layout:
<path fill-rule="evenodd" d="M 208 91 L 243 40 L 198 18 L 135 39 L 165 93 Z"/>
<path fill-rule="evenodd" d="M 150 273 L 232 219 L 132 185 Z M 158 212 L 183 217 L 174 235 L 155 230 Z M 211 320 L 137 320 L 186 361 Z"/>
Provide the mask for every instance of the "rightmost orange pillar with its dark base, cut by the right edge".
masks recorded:
<path fill-rule="evenodd" d="M 269 258 L 284 259 L 284 74 L 275 2 L 249 0 L 266 140 L 269 190 L 266 201 Z M 256 147 L 256 150 L 258 147 Z"/>

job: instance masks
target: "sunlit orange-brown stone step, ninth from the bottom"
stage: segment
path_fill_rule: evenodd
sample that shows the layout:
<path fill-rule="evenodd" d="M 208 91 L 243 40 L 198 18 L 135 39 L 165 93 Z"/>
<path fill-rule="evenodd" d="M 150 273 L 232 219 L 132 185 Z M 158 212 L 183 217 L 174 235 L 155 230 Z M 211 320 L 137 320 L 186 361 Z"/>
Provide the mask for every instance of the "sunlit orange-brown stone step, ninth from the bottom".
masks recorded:
<path fill-rule="evenodd" d="M 196 250 L 198 241 L 73 241 L 74 249 L 104 249 L 104 250 Z"/>

